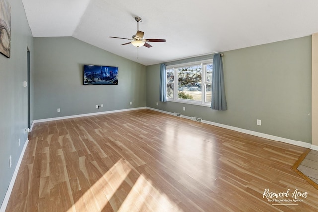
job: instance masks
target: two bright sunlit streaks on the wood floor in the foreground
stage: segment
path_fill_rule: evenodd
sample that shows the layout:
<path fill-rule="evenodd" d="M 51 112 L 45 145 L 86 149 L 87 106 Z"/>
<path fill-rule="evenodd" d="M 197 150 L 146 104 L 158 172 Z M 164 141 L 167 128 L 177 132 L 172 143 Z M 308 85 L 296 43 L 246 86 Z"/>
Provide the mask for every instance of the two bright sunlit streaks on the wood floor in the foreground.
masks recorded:
<path fill-rule="evenodd" d="M 132 182 L 129 179 L 132 171 L 134 170 L 130 164 L 126 160 L 120 159 L 67 212 L 100 212 L 105 209 L 106 205 L 118 212 L 127 212 L 127 210 L 130 212 L 183 211 L 177 206 L 179 202 L 171 201 L 166 194 L 156 189 L 143 174 L 138 177 L 136 182 Z M 114 198 L 114 195 L 123 194 L 126 190 L 123 189 L 124 184 L 129 185 L 129 193 L 120 202 Z"/>

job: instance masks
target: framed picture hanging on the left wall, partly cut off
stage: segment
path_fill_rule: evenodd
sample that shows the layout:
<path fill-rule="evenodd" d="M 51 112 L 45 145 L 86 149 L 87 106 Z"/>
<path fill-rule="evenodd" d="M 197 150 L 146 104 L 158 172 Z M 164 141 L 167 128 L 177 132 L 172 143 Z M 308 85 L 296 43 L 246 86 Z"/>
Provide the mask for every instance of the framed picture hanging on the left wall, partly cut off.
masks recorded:
<path fill-rule="evenodd" d="M 11 6 L 8 0 L 0 0 L 0 52 L 11 57 Z"/>

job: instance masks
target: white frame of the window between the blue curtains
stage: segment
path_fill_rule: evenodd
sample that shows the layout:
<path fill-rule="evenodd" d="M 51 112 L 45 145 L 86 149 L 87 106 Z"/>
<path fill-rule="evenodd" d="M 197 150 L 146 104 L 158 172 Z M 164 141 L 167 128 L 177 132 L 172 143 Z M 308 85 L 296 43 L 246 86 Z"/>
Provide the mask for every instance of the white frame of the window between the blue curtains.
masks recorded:
<path fill-rule="evenodd" d="M 207 82 L 207 80 L 206 80 L 207 78 L 206 78 L 206 66 L 205 65 L 212 64 L 212 63 L 213 63 L 213 59 L 208 59 L 208 60 L 166 66 L 166 70 L 173 69 L 173 71 L 174 71 L 173 98 L 169 98 L 167 96 L 167 101 L 210 107 L 211 102 L 206 102 L 205 98 L 206 98 L 206 92 L 207 92 L 206 86 L 207 86 L 207 84 L 211 84 L 212 82 Z M 202 82 L 201 82 L 202 83 L 201 84 L 202 98 L 201 98 L 201 101 L 179 99 L 178 98 L 178 72 L 177 72 L 178 70 L 177 69 L 181 68 L 181 67 L 190 67 L 190 66 L 198 66 L 198 65 L 202 66 L 202 75 L 201 75 L 201 77 L 202 77 Z M 166 87 L 167 87 L 167 84 L 168 84 L 168 81 L 165 85 Z M 208 91 L 208 92 L 211 92 L 211 91 Z"/>

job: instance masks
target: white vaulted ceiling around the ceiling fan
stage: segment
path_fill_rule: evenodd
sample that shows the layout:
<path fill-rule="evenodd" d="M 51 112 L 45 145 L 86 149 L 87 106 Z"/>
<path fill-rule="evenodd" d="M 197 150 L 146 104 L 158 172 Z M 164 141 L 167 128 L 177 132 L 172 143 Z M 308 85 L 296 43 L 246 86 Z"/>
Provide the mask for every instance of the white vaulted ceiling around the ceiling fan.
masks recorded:
<path fill-rule="evenodd" d="M 22 0 L 34 37 L 72 36 L 144 65 L 318 32 L 317 0 Z M 139 30 L 153 47 L 120 44 Z M 295 50 L 297 51 L 297 50 Z"/>

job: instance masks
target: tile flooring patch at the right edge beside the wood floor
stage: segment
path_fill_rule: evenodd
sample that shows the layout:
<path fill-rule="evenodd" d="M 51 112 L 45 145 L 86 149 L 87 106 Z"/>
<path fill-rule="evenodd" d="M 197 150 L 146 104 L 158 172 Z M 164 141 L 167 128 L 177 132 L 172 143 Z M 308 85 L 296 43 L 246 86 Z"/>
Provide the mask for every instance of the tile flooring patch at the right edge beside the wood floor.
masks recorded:
<path fill-rule="evenodd" d="M 318 151 L 310 150 L 297 169 L 318 184 Z"/>

